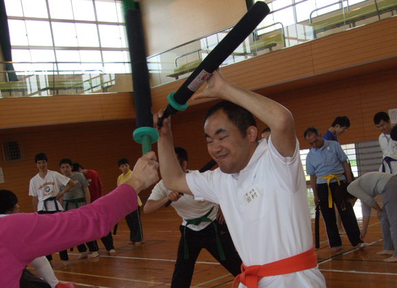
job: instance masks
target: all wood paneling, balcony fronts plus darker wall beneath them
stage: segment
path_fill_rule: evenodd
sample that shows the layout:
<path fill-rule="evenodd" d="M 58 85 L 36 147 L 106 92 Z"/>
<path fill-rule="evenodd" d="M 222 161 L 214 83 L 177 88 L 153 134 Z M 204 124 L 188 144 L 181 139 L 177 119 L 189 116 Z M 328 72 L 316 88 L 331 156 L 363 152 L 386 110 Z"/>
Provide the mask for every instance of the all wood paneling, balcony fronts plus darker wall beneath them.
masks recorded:
<path fill-rule="evenodd" d="M 341 143 L 374 141 L 379 131 L 373 115 L 397 108 L 396 27 L 397 17 L 392 17 L 232 64 L 222 73 L 290 109 L 302 149 L 308 147 L 302 136 L 307 126 L 324 132 L 339 115 L 351 121 Z M 153 111 L 164 108 L 165 95 L 182 82 L 153 88 Z M 21 211 L 32 211 L 27 193 L 37 173 L 33 159 L 38 152 L 48 154 L 49 169 L 58 171 L 59 160 L 69 157 L 98 171 L 105 191 L 114 189 L 120 174 L 117 159 L 127 156 L 133 163 L 142 153 L 132 140 L 132 99 L 132 93 L 0 99 L 0 141 L 20 141 L 24 154 L 14 163 L 3 163 L 0 156 L 5 178 L 0 189 L 16 192 Z M 172 117 L 175 145 L 188 150 L 191 169 L 209 160 L 203 115 L 212 103 L 190 102 L 188 110 Z M 259 132 L 264 127 L 258 123 Z M 142 197 L 148 193 L 142 192 Z"/>

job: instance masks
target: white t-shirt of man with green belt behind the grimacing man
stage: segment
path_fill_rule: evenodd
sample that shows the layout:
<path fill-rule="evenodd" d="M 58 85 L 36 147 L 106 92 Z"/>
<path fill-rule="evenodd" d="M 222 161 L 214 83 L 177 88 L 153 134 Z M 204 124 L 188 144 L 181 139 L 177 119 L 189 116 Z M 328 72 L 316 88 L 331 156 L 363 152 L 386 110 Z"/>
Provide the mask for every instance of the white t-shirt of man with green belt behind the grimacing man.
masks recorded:
<path fill-rule="evenodd" d="M 160 180 L 153 188 L 148 200 L 161 200 L 164 199 L 164 197 L 167 197 L 169 193 L 171 193 L 171 190 L 166 189 L 163 180 Z M 208 216 L 209 219 L 212 219 L 212 221 L 214 221 L 218 213 L 218 205 L 205 200 L 196 201 L 194 196 L 189 194 L 184 194 L 182 197 L 179 198 L 178 201 L 172 202 L 171 206 L 175 208 L 175 211 L 177 211 L 178 215 L 182 217 L 183 226 L 186 225 L 185 219 L 196 219 L 202 217 L 207 214 L 211 210 L 211 208 L 213 209 Z M 209 224 L 211 224 L 211 222 L 201 222 L 201 224 L 199 225 L 189 224 L 188 228 L 194 231 L 200 231 L 207 227 Z"/>

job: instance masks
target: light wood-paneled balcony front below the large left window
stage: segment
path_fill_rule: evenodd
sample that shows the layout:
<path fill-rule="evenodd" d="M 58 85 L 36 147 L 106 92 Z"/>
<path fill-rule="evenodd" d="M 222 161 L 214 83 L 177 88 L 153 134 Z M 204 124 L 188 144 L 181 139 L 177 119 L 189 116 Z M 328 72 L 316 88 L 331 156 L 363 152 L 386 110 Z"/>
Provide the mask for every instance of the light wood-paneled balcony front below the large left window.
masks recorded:
<path fill-rule="evenodd" d="M 133 93 L 0 99 L 0 129 L 132 118 Z"/>

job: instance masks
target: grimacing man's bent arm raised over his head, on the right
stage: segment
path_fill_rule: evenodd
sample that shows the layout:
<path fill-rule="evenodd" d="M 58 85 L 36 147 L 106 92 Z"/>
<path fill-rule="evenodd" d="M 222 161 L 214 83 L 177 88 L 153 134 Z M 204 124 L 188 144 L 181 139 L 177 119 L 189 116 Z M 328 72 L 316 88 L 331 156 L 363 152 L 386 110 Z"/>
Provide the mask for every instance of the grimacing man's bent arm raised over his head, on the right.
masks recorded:
<path fill-rule="evenodd" d="M 246 108 L 270 127 L 272 143 L 281 156 L 294 155 L 297 141 L 294 118 L 281 104 L 225 80 L 219 70 L 209 79 L 207 88 L 192 97 L 203 98 L 221 98 Z"/>

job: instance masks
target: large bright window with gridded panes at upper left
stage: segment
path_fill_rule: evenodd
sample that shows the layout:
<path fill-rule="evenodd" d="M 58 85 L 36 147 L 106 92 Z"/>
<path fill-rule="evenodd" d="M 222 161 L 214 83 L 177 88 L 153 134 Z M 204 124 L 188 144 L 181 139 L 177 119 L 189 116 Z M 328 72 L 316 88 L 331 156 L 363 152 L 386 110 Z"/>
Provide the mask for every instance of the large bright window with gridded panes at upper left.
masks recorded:
<path fill-rule="evenodd" d="M 5 8 L 14 62 L 76 62 L 57 63 L 55 70 L 60 73 L 130 70 L 129 64 L 101 63 L 129 62 L 119 0 L 5 0 Z M 14 67 L 18 71 L 54 69 L 44 63 Z"/>

